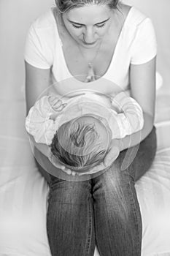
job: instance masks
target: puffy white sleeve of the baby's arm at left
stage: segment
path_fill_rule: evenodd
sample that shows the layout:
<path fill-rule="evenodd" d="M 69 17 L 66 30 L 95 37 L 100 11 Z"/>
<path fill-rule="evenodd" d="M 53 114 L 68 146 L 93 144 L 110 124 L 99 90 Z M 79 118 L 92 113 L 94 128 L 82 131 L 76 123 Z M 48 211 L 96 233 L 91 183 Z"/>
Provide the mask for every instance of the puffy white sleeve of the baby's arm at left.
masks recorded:
<path fill-rule="evenodd" d="M 54 108 L 51 107 L 53 98 L 44 96 L 39 99 L 26 117 L 26 130 L 34 136 L 36 143 L 50 145 L 52 142 L 55 134 L 55 121 L 50 118 L 55 113 Z"/>

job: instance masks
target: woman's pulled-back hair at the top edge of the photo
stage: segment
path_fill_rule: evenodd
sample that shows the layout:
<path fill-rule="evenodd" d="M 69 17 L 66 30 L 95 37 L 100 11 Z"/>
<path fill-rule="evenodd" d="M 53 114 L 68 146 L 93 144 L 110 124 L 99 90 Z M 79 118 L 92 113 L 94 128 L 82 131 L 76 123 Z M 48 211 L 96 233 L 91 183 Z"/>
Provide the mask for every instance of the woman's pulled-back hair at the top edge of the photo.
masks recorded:
<path fill-rule="evenodd" d="M 105 4 L 112 10 L 117 9 L 118 2 L 119 0 L 55 0 L 55 4 L 61 13 L 88 4 Z"/>

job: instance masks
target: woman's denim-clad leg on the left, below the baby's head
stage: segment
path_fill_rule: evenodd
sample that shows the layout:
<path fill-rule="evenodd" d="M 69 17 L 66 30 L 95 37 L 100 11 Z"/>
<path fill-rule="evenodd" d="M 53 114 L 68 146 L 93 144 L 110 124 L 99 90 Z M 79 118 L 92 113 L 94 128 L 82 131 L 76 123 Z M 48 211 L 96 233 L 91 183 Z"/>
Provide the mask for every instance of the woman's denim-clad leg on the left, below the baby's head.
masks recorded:
<path fill-rule="evenodd" d="M 51 176 L 47 235 L 52 255 L 93 255 L 95 249 L 91 181 Z"/>

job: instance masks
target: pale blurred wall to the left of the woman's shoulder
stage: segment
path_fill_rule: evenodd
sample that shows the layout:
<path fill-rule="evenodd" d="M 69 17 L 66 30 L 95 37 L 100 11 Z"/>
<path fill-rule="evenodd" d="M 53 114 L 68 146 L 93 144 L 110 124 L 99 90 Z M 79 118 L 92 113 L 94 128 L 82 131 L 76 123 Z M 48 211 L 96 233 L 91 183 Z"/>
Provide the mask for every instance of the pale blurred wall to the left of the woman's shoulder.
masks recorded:
<path fill-rule="evenodd" d="M 0 97 L 20 98 L 24 85 L 23 49 L 31 21 L 53 0 L 0 0 Z"/>

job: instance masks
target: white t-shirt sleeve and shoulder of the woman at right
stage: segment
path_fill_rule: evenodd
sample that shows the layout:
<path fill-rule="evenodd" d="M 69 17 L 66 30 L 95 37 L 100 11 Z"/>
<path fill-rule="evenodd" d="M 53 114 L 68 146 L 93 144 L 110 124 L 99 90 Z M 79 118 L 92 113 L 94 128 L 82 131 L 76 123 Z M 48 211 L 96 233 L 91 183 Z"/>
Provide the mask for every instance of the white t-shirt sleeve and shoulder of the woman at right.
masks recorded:
<path fill-rule="evenodd" d="M 131 53 L 131 64 L 143 64 L 157 53 L 155 29 L 150 17 L 131 7 L 123 27 L 123 42 Z"/>

